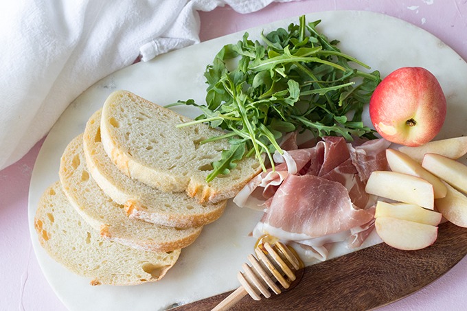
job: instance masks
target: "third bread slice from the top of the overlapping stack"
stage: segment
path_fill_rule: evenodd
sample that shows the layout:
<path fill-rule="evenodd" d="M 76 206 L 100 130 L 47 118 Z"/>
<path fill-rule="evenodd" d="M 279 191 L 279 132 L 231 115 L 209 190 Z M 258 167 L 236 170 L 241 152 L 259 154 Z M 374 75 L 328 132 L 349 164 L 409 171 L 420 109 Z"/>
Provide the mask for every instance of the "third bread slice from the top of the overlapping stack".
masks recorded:
<path fill-rule="evenodd" d="M 145 251 L 173 251 L 190 245 L 201 233 L 202 227 L 177 229 L 128 218 L 124 206 L 106 196 L 90 176 L 82 135 L 63 152 L 59 175 L 71 205 L 104 238 Z"/>

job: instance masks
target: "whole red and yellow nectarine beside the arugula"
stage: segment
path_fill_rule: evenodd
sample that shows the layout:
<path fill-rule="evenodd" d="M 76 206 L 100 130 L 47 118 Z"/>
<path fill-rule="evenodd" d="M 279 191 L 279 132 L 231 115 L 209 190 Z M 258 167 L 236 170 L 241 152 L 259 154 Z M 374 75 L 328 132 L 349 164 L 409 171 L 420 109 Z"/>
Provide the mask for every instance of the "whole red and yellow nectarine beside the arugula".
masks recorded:
<path fill-rule="evenodd" d="M 420 146 L 440 132 L 446 119 L 446 97 L 433 73 L 422 67 L 402 67 L 374 90 L 369 117 L 388 141 Z"/>

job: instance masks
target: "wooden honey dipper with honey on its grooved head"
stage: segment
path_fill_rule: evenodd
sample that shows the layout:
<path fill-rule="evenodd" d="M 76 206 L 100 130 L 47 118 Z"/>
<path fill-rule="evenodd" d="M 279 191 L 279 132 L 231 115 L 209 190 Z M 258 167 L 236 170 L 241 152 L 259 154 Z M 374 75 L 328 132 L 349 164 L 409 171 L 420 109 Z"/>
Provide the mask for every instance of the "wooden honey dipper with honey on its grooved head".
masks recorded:
<path fill-rule="evenodd" d="M 271 297 L 269 288 L 276 295 L 279 295 L 282 290 L 277 286 L 276 281 L 287 289 L 291 286 L 291 282 L 297 278 L 295 273 L 301 268 L 301 261 L 281 242 L 275 242 L 273 245 L 269 242 L 259 244 L 255 248 L 255 253 L 257 257 L 251 254 L 248 255 L 251 266 L 244 263 L 242 264 L 244 273 L 238 272 L 237 277 L 241 286 L 221 301 L 212 311 L 228 310 L 247 294 L 255 300 L 261 300 L 261 295 L 269 298 Z"/>

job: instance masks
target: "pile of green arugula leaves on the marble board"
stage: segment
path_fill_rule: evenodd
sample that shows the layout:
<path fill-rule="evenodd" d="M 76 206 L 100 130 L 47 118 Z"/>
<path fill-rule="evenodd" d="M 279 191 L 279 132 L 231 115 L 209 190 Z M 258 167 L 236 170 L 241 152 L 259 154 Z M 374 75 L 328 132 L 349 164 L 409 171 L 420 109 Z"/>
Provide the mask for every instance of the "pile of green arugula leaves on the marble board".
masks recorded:
<path fill-rule="evenodd" d="M 339 41 L 320 34 L 320 22 L 307 24 L 301 16 L 299 25 L 291 23 L 288 30 L 262 33 L 264 45 L 249 40 L 245 33 L 238 43 L 225 45 L 207 66 L 206 105 L 193 100 L 176 103 L 197 106 L 203 112 L 181 126 L 206 122 L 226 131 L 206 140 L 227 138 L 231 146 L 212 163 L 208 182 L 218 174 L 229 174 L 235 161 L 253 153 L 263 170 L 264 153 L 274 168 L 272 154 L 283 153 L 277 140 L 295 130 L 309 130 L 315 137 L 342 136 L 348 141 L 376 138 L 363 125 L 361 115 L 380 82 L 379 72 L 351 67 L 350 62 L 369 69 L 342 53 Z"/>

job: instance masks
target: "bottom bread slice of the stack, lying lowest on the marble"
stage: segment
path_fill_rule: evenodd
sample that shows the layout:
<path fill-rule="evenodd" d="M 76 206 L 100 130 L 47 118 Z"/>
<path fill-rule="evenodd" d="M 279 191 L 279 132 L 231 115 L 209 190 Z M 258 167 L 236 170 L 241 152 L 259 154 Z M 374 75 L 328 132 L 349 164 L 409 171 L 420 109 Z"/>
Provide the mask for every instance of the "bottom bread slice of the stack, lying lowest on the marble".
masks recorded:
<path fill-rule="evenodd" d="M 104 240 L 71 207 L 58 182 L 39 200 L 34 227 L 45 251 L 73 273 L 91 278 L 91 285 L 159 281 L 180 255 L 180 250 L 139 251 Z"/>

